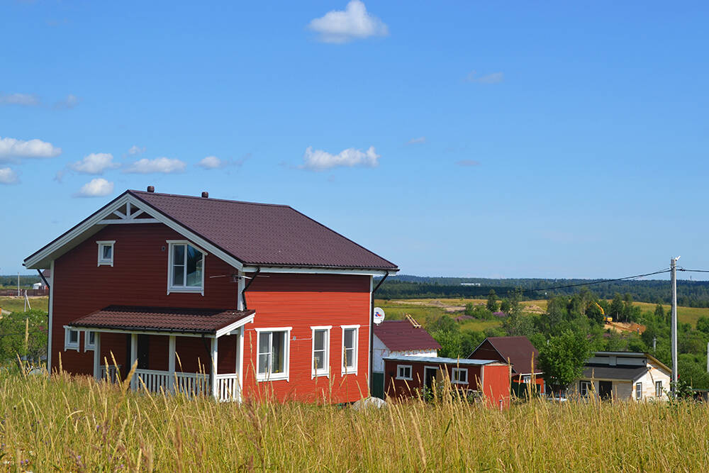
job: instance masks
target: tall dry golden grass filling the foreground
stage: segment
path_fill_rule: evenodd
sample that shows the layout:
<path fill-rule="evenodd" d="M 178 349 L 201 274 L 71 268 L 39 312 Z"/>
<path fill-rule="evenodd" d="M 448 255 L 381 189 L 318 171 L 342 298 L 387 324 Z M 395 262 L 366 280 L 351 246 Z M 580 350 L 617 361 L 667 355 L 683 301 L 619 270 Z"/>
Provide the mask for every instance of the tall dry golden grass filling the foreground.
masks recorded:
<path fill-rule="evenodd" d="M 0 374 L 0 471 L 706 471 L 703 404 L 446 396 L 381 410 L 149 396 Z"/>

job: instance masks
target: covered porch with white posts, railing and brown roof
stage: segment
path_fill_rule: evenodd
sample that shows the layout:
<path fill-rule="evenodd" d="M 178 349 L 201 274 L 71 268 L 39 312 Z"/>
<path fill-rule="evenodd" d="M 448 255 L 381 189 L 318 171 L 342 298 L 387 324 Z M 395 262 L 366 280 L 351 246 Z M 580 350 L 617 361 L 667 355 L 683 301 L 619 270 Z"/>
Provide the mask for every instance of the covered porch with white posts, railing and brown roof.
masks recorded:
<path fill-rule="evenodd" d="M 244 325 L 255 311 L 109 306 L 73 321 L 94 341 L 94 378 L 157 394 L 240 401 Z M 221 352 L 221 353 L 220 353 Z M 125 365 L 116 366 L 117 360 Z M 112 364 L 113 363 L 113 364 Z"/>

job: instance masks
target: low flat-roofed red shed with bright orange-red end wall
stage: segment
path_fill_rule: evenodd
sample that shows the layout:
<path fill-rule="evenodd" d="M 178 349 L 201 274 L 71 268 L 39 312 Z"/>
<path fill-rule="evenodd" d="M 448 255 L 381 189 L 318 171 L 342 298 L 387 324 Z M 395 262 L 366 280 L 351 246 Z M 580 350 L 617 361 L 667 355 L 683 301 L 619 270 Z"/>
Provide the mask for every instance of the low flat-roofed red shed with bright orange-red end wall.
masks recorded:
<path fill-rule="evenodd" d="M 491 407 L 508 408 L 510 370 L 508 363 L 496 360 L 393 355 L 384 358 L 384 392 L 391 397 L 411 397 L 447 378 L 466 394 L 480 394 Z"/>

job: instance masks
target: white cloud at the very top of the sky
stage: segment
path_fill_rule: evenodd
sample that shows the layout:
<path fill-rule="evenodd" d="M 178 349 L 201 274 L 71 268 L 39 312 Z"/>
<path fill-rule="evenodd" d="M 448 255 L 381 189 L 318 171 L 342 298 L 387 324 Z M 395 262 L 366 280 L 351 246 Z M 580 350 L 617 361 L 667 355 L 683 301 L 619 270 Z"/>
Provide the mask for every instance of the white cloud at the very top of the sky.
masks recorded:
<path fill-rule="evenodd" d="M 367 13 L 364 3 L 359 0 L 351 0 L 345 11 L 328 11 L 325 16 L 311 20 L 308 28 L 320 33 L 319 39 L 323 43 L 349 43 L 352 40 L 389 34 L 386 24 Z"/>

